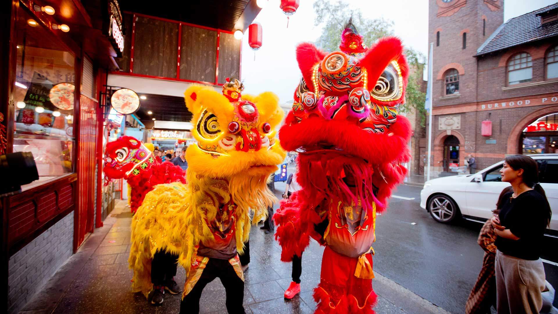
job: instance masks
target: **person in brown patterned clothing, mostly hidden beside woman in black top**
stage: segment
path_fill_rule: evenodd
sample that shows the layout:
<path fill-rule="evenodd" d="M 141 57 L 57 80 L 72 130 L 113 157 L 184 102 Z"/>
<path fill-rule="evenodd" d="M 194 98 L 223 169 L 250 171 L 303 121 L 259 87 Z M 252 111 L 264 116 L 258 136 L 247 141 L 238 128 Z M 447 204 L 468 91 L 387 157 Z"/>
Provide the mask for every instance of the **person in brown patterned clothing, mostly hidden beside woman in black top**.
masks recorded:
<path fill-rule="evenodd" d="M 506 194 L 513 191 L 512 187 L 502 190 L 496 202 L 496 209 L 492 212 L 496 215 L 502 209 L 503 204 L 508 201 Z M 467 303 L 465 304 L 466 314 L 490 314 L 490 306 L 496 308 L 496 274 L 494 273 L 494 261 L 496 260 L 496 232 L 492 226 L 492 221 L 487 220 L 480 229 L 477 243 L 484 250 L 483 267 L 480 269 L 479 277 Z"/>

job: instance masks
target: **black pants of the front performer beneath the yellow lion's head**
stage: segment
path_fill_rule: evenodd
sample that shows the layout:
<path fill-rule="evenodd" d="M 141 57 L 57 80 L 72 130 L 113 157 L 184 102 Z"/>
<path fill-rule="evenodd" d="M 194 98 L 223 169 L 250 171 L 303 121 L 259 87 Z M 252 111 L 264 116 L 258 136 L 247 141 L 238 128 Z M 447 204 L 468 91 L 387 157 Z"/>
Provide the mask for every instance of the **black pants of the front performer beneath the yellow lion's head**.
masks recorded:
<path fill-rule="evenodd" d="M 201 292 L 215 278 L 221 279 L 225 287 L 227 311 L 231 314 L 246 313 L 242 306 L 244 301 L 244 282 L 238 277 L 228 260 L 210 258 L 192 291 L 182 299 L 180 303 L 181 314 L 199 313 Z"/>

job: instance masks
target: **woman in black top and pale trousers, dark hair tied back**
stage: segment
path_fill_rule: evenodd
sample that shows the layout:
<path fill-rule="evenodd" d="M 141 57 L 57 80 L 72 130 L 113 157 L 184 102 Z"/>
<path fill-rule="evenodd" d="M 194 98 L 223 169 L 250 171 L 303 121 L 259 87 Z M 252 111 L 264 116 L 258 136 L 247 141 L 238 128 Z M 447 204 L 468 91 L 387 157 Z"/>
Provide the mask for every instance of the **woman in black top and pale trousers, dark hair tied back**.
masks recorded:
<path fill-rule="evenodd" d="M 504 159 L 502 181 L 512 185 L 499 216 L 492 217 L 496 239 L 497 311 L 538 313 L 542 307 L 545 270 L 540 259 L 542 237 L 552 215 L 538 183 L 535 160 L 525 155 Z"/>

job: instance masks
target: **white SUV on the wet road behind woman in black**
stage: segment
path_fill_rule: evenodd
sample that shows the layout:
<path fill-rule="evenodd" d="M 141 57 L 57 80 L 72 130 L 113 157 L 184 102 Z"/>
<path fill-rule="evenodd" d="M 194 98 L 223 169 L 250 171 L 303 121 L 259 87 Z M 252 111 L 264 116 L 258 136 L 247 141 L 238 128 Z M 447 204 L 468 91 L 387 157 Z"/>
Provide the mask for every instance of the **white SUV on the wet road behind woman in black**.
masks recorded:
<path fill-rule="evenodd" d="M 528 156 L 537 161 L 539 180 L 554 213 L 558 209 L 558 154 Z M 420 206 L 439 222 L 463 217 L 484 223 L 492 216 L 502 190 L 509 186 L 509 183 L 502 182 L 502 164 L 500 161 L 475 174 L 426 181 L 420 192 Z M 554 214 L 546 233 L 558 237 L 558 215 Z"/>

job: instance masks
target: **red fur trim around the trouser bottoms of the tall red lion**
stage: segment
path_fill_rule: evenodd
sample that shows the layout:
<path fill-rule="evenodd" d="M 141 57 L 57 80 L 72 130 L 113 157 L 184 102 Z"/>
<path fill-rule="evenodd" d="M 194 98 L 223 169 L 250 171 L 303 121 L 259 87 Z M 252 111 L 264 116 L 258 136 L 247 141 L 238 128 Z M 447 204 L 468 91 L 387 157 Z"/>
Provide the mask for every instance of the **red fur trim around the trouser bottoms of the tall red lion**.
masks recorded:
<path fill-rule="evenodd" d="M 344 294 L 339 298 L 339 301 L 331 301 L 331 297 L 324 288 L 318 286 L 314 289 L 314 300 L 318 303 L 318 308 L 315 313 L 324 314 L 374 314 L 372 308 L 376 305 L 377 296 L 374 291 L 371 291 L 364 301 L 362 306 L 359 306 L 357 298 L 352 294 Z"/>

